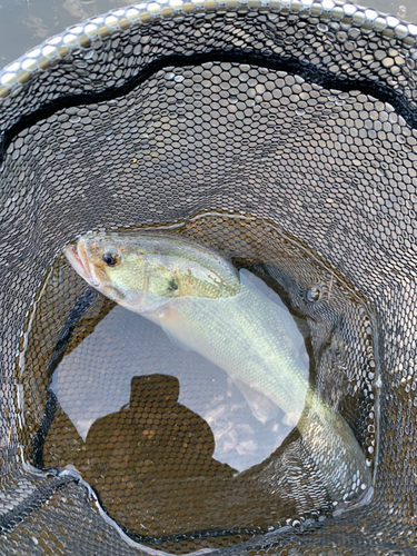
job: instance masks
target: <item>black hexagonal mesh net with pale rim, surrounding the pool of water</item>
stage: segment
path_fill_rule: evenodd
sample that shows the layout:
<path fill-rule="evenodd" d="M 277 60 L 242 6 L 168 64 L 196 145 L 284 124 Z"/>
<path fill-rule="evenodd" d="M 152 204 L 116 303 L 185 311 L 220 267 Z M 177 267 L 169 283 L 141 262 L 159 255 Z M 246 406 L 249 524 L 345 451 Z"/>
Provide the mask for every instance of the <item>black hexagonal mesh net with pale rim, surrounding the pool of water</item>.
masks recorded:
<path fill-rule="evenodd" d="M 201 210 L 271 220 L 319 254 L 371 305 L 381 364 L 374 499 L 218 554 L 416 550 L 414 27 L 334 2 L 153 2 L 0 76 L 4 554 L 151 553 L 103 519 L 76 475 L 24 463 L 21 430 L 40 435 L 42 366 L 60 354 L 48 350 L 57 338 L 38 339 L 32 384 L 20 354 L 44 272 L 76 235 Z M 89 296 L 81 328 L 109 308 Z"/>

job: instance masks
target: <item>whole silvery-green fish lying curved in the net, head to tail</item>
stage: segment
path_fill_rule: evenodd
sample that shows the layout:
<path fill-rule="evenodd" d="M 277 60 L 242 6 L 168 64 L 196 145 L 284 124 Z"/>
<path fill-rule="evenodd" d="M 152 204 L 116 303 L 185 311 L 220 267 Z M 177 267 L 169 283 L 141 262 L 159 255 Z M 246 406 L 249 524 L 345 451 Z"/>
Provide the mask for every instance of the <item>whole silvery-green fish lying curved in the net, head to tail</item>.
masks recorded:
<path fill-rule="evenodd" d="M 353 484 L 353 467 L 369 483 L 350 427 L 315 391 L 296 357 L 295 319 L 231 261 L 192 240 L 143 231 L 87 235 L 66 256 L 91 287 L 224 369 L 260 421 L 285 411 L 334 496 Z"/>

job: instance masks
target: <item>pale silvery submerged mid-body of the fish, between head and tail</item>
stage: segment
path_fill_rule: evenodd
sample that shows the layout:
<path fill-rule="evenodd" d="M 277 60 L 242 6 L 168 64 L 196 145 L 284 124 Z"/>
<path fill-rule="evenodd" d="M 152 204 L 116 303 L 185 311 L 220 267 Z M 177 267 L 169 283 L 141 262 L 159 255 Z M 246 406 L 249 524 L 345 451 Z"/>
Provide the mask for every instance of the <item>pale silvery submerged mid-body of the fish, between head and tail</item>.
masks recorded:
<path fill-rule="evenodd" d="M 179 344 L 226 370 L 230 378 L 259 390 L 285 413 L 301 414 L 308 378 L 297 363 L 297 349 L 291 341 L 291 335 L 299 334 L 297 326 L 249 280 L 240 278 L 236 296 L 177 298 L 170 308 L 178 317 L 168 325 L 163 316 L 143 316 L 157 321 Z M 183 316 L 191 326 L 185 325 Z"/>

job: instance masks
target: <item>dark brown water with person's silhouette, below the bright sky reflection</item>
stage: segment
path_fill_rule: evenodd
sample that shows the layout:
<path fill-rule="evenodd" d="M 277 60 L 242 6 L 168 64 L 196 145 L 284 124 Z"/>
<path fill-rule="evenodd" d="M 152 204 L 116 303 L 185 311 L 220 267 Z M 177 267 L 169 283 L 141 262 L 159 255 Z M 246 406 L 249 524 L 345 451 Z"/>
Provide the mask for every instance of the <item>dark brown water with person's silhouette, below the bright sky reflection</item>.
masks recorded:
<path fill-rule="evenodd" d="M 97 419 L 86 443 L 58 404 L 44 465 L 73 465 L 132 538 L 176 554 L 227 546 L 327 507 L 297 429 L 237 473 L 212 457 L 210 426 L 179 404 L 179 388 L 173 376 L 133 377 L 129 404 Z"/>

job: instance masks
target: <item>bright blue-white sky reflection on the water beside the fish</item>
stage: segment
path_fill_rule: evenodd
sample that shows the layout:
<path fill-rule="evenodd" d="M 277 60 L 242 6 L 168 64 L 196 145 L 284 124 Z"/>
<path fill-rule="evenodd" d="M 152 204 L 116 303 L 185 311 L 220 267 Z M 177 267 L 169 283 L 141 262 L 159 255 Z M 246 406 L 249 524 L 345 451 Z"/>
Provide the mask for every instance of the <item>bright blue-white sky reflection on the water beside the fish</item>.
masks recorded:
<path fill-rule="evenodd" d="M 275 302 L 284 306 L 259 278 L 252 279 L 259 289 L 270 292 Z M 308 355 L 301 334 L 296 339 L 308 376 Z M 111 348 L 103 354 L 106 344 Z M 115 370 L 115 360 L 122 371 Z M 173 346 L 160 327 L 120 306 L 62 360 L 53 374 L 51 389 L 86 440 L 96 419 L 129 403 L 131 379 L 155 369 L 178 378 L 178 401 L 199 414 L 215 435 L 212 457 L 239 471 L 261 463 L 291 431 L 284 411 L 262 425 L 221 369 L 197 353 Z"/>

